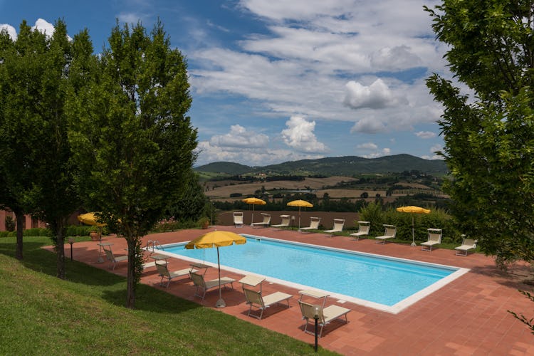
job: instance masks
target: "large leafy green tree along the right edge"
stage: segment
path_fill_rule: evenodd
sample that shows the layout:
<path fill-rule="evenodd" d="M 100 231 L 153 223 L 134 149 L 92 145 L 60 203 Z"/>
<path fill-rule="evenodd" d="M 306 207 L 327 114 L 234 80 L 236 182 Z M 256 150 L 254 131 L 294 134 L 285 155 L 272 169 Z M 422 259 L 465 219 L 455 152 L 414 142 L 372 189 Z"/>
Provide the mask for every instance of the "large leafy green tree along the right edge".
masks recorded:
<path fill-rule="evenodd" d="M 439 75 L 427 80 L 444 105 L 452 212 L 498 263 L 532 261 L 534 1 L 446 0 L 426 11 L 474 98 Z"/>

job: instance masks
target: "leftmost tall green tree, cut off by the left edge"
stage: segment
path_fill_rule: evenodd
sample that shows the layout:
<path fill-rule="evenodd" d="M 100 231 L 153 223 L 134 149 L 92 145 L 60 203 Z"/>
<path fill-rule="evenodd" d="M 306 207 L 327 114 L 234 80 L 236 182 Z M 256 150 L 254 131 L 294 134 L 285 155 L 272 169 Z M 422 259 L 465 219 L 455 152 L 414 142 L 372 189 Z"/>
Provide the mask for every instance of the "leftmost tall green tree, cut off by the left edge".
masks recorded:
<path fill-rule="evenodd" d="M 25 105 L 34 90 L 31 85 L 26 85 L 31 83 L 28 68 L 38 66 L 46 38 L 38 31 L 28 31 L 24 22 L 19 38 L 21 41 L 15 42 L 5 29 L 0 31 L 0 142 L 4 144 L 0 150 L 0 208 L 15 213 L 15 257 L 21 260 L 23 218 L 28 208 L 24 194 L 31 188 L 33 174 L 29 162 L 32 143 L 23 140 L 31 137 L 24 134 L 27 127 L 23 124 L 26 122 L 19 120 L 30 116 L 33 109 L 32 105 Z"/>

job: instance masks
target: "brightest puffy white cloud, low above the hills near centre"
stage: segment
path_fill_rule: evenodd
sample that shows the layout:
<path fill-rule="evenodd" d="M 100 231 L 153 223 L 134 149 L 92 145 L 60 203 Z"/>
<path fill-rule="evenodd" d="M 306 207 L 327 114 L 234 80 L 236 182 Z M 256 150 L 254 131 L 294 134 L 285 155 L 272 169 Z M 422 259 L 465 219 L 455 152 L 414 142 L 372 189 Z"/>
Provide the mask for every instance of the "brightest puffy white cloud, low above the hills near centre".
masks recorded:
<path fill-rule="evenodd" d="M 292 116 L 286 122 L 288 127 L 282 130 L 283 141 L 286 145 L 300 152 L 326 152 L 327 147 L 317 140 L 313 130 L 315 121 L 307 121 L 300 116 Z"/>

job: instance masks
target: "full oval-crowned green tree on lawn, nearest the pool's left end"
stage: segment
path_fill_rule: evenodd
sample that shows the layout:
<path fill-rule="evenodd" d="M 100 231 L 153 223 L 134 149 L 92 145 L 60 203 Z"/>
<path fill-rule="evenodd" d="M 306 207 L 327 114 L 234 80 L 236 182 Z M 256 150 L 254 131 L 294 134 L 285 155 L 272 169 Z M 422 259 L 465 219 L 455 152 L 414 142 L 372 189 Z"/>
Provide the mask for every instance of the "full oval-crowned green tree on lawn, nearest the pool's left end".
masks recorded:
<path fill-rule="evenodd" d="M 70 95 L 70 140 L 85 206 L 127 240 L 126 306 L 134 308 L 141 237 L 189 189 L 197 131 L 186 61 L 162 23 L 150 36 L 140 23 L 117 24 L 108 41 L 88 85 Z"/>

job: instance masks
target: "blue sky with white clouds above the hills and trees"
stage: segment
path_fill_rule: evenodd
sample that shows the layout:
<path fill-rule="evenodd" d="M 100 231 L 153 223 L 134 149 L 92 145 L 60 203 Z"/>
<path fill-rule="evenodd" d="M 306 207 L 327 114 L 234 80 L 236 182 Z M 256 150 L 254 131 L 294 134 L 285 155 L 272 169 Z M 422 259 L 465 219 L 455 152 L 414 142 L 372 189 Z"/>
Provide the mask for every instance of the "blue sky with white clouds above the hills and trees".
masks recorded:
<path fill-rule="evenodd" d="M 0 27 L 72 37 L 95 51 L 111 28 L 159 17 L 187 56 L 196 165 L 263 166 L 296 159 L 408 153 L 438 158 L 442 109 L 424 81 L 446 78 L 446 48 L 416 0 L 0 0 Z"/>

